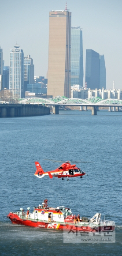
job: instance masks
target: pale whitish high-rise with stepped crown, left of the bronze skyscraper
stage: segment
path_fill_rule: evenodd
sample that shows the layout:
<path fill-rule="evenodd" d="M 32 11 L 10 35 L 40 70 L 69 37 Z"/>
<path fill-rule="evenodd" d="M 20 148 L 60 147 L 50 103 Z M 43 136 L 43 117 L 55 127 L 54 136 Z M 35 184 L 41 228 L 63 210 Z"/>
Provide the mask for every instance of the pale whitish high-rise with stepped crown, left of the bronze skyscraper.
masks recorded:
<path fill-rule="evenodd" d="M 13 98 L 24 97 L 24 53 L 19 48 L 20 46 L 15 45 L 14 49 L 10 49 L 9 89 L 12 91 Z"/>

